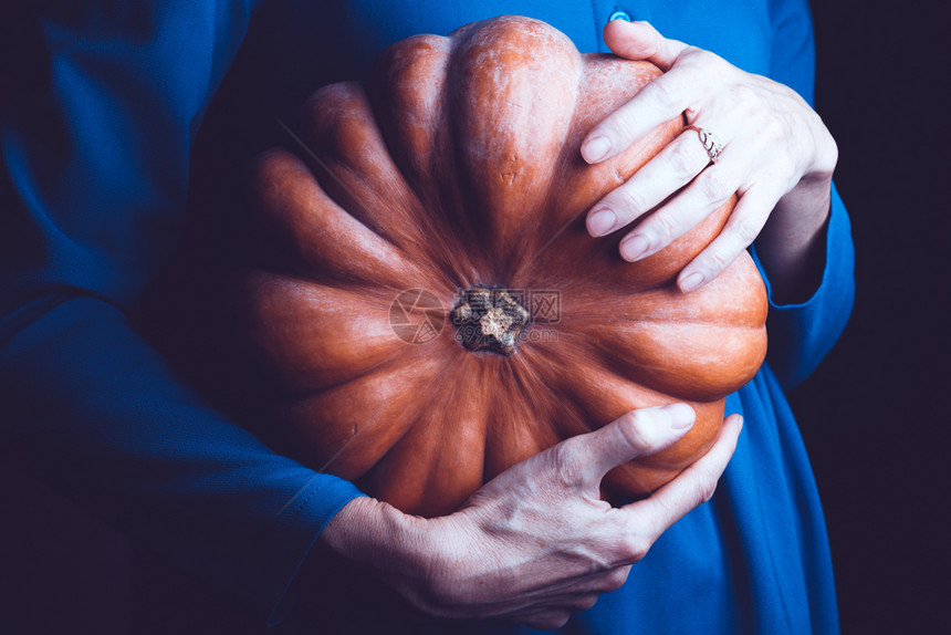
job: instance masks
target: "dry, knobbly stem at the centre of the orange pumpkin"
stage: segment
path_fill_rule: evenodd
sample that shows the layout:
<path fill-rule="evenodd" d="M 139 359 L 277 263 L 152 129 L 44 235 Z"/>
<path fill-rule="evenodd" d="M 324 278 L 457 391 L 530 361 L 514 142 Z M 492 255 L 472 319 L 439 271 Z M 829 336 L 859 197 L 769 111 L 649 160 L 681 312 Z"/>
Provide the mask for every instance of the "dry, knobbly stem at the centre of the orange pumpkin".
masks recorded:
<path fill-rule="evenodd" d="M 468 350 L 512 355 L 531 313 L 508 289 L 473 287 L 462 292 L 451 318 L 457 339 Z"/>

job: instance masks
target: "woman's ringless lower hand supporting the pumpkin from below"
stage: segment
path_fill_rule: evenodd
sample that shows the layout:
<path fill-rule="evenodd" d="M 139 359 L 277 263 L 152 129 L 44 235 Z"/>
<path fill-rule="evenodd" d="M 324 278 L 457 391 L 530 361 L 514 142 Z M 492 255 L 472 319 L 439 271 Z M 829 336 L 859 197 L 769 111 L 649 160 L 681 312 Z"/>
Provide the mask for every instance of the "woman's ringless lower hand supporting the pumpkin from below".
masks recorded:
<path fill-rule="evenodd" d="M 620 508 L 600 500 L 608 470 L 672 445 L 693 418 L 684 404 L 630 412 L 509 468 L 446 517 L 357 498 L 322 539 L 430 615 L 555 628 L 624 584 L 658 537 L 713 495 L 736 447 L 738 415 L 649 498 Z"/>

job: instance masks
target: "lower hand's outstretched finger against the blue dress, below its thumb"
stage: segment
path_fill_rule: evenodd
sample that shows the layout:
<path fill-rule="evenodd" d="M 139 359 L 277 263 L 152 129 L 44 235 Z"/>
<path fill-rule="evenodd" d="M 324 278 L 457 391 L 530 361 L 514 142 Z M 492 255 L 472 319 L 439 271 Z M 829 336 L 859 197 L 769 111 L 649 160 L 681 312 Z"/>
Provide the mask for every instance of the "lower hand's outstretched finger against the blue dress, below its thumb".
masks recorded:
<path fill-rule="evenodd" d="M 733 450 L 736 449 L 736 439 L 742 427 L 743 418 L 740 415 L 729 416 L 723 423 L 717 441 L 706 455 L 654 492 L 650 498 L 621 508 L 627 513 L 628 522 L 631 523 L 631 533 L 646 535 L 652 544 L 687 512 L 710 500 L 717 489 L 717 481 L 727 469 Z"/>

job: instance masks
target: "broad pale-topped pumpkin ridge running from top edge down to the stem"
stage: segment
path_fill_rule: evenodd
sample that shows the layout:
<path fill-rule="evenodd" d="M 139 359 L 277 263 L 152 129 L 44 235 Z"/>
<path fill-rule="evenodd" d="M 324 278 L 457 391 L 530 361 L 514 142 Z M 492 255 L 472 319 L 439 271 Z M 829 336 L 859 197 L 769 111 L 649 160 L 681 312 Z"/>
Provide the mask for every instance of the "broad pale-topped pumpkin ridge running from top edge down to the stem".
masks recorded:
<path fill-rule="evenodd" d="M 466 195 L 460 212 L 478 221 L 470 249 L 490 254 L 482 282 L 505 287 L 537 242 L 581 55 L 564 34 L 514 17 L 477 23 L 458 40 L 447 79 L 457 87 L 447 101 L 449 156 L 458 157 L 454 181 Z"/>

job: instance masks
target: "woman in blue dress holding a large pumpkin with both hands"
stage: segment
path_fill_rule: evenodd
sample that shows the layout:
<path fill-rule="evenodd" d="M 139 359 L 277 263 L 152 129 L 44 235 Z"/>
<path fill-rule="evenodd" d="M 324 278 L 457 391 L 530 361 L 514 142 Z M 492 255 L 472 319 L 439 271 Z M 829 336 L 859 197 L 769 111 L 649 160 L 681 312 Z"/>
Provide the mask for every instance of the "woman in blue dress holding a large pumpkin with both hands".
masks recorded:
<path fill-rule="evenodd" d="M 297 585 L 296 604 L 282 604 L 316 540 L 416 611 L 495 618 L 462 623 L 473 631 L 555 627 L 569 615 L 571 632 L 837 629 L 822 511 L 782 394 L 832 346 L 853 293 L 848 220 L 830 180 L 835 144 L 808 106 L 805 2 L 187 10 L 155 2 L 44 11 L 24 22 L 32 28 L 20 35 L 22 55 L 32 63 L 3 112 L 0 377 L 22 406 L 8 436 L 61 487 L 253 603 L 262 621 L 290 611 L 285 628 L 313 620 L 341 631 L 424 628 L 399 612 L 360 611 L 367 597 L 349 611 L 307 615 L 334 576 L 317 551 L 305 568 L 317 591 Z M 229 67 L 205 134 L 211 154 L 237 166 L 265 140 L 254 126 L 316 85 L 362 75 L 404 37 L 500 13 L 545 20 L 582 51 L 610 50 L 667 71 L 592 131 L 583 157 L 605 160 L 681 112 L 696 129 L 597 204 L 588 230 L 625 232 L 621 254 L 637 260 L 739 191 L 730 222 L 678 284 L 688 292 L 709 282 L 755 239 L 771 291 L 771 352 L 728 398 L 745 434 L 728 419 L 714 448 L 647 501 L 619 511 L 593 502 L 606 469 L 679 438 L 689 408 L 623 417 L 512 468 L 464 510 L 424 521 L 274 455 L 209 409 L 127 314 L 178 240 L 192 143 Z M 731 454 L 717 493 L 697 507 Z M 520 514 L 535 520 L 513 525 Z"/>

